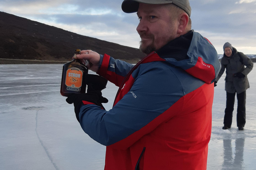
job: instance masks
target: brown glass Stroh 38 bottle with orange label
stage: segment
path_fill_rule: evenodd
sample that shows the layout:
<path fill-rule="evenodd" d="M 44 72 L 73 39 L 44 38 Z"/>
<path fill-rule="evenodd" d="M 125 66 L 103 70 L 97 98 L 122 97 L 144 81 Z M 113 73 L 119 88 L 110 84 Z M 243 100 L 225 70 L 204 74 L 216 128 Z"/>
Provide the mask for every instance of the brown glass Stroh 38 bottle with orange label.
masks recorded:
<path fill-rule="evenodd" d="M 80 54 L 81 50 L 76 49 L 72 61 L 63 65 L 60 94 L 68 97 L 71 94 L 85 93 L 88 68 L 75 55 Z"/>

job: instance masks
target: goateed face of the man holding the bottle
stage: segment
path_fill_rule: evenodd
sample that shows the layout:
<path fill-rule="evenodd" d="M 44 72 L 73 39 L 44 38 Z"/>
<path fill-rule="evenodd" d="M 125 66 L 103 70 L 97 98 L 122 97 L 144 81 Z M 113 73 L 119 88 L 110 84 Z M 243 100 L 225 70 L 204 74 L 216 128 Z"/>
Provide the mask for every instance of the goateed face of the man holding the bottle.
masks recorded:
<path fill-rule="evenodd" d="M 178 37 L 178 21 L 173 19 L 166 5 L 140 3 L 137 15 L 140 20 L 137 32 L 141 37 L 142 52 L 149 54 Z"/>

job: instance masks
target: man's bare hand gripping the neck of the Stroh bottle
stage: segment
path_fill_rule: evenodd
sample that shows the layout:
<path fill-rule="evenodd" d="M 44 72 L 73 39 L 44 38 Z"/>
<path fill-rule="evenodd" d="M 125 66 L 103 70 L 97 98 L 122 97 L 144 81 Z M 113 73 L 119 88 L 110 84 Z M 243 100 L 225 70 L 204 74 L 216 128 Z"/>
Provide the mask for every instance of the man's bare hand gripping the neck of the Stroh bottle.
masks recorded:
<path fill-rule="evenodd" d="M 82 50 L 80 55 L 76 55 L 76 58 L 80 60 L 89 60 L 90 64 L 87 67 L 94 72 L 99 70 L 100 54 L 97 52 L 92 50 Z"/>

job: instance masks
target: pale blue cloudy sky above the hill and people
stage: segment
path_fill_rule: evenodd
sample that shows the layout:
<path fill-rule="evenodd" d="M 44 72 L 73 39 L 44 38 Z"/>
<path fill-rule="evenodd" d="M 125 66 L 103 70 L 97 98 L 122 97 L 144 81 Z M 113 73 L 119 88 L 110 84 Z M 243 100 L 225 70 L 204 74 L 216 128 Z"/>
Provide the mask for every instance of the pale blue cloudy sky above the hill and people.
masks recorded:
<path fill-rule="evenodd" d="M 0 11 L 80 35 L 139 47 L 135 13 L 121 10 L 123 0 L 0 0 Z M 230 42 L 256 54 L 256 0 L 190 0 L 192 29 L 223 53 Z"/>

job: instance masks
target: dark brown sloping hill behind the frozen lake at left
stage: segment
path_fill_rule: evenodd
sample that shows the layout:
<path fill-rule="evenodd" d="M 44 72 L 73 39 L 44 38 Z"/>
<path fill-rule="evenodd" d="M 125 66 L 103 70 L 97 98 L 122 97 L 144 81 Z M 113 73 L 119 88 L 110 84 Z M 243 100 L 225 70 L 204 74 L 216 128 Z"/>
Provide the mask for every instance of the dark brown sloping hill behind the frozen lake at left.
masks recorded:
<path fill-rule="evenodd" d="M 74 49 L 91 49 L 128 62 L 138 62 L 145 56 L 137 48 L 82 36 L 4 12 L 0 12 L 0 40 L 0 58 L 15 59 L 1 59 L 0 64 L 70 61 Z"/>

